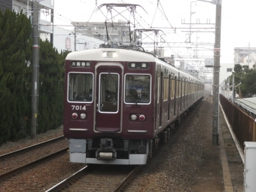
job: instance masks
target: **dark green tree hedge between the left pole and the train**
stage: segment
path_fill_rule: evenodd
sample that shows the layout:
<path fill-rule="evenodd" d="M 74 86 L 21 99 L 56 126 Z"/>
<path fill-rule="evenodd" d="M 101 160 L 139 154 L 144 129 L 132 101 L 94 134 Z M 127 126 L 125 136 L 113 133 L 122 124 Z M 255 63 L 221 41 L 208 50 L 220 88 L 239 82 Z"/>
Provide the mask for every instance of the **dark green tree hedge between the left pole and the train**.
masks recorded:
<path fill-rule="evenodd" d="M 62 124 L 64 105 L 64 60 L 49 41 L 40 41 L 38 133 Z"/>

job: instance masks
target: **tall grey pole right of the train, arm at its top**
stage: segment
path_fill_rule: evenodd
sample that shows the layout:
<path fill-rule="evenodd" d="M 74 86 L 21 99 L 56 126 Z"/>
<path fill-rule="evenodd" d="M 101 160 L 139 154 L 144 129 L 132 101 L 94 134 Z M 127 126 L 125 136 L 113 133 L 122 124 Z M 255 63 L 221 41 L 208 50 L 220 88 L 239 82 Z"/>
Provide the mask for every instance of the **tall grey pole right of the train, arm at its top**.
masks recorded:
<path fill-rule="evenodd" d="M 213 66 L 213 122 L 212 122 L 212 145 L 218 145 L 218 101 L 219 101 L 219 78 L 220 78 L 220 56 L 221 56 L 221 2 L 222 0 L 197 0 L 201 2 L 209 2 L 216 5 L 215 19 L 215 52 Z"/>

